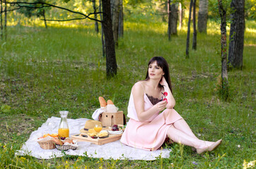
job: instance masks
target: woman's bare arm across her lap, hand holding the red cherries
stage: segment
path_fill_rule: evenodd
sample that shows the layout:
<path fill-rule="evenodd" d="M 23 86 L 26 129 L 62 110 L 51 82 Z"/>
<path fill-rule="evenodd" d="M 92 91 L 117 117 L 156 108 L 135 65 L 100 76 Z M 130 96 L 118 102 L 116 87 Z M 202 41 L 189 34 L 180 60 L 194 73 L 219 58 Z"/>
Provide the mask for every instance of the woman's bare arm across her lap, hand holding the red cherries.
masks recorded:
<path fill-rule="evenodd" d="M 139 121 L 145 121 L 151 118 L 156 112 L 163 111 L 166 106 L 166 101 L 160 101 L 158 104 L 144 110 L 144 89 L 141 86 L 141 82 L 136 82 L 132 87 L 132 95 L 134 96 L 134 106 L 136 109 Z"/>

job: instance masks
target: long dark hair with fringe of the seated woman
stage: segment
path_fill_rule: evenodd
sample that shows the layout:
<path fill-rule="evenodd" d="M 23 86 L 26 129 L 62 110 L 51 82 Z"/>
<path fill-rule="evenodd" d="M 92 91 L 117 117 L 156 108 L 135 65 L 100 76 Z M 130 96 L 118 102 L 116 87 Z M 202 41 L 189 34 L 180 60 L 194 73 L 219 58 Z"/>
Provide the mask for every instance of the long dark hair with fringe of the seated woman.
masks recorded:
<path fill-rule="evenodd" d="M 156 64 L 163 69 L 163 73 L 165 73 L 163 75 L 163 77 L 165 77 L 166 82 L 168 83 L 168 87 L 170 88 L 170 92 L 173 93 L 173 89 L 172 89 L 172 84 L 170 82 L 170 71 L 169 71 L 169 66 L 167 61 L 165 61 L 165 58 L 163 58 L 162 56 L 155 56 L 153 58 L 150 59 L 149 63 L 148 63 L 148 70 L 146 70 L 146 79 L 145 80 L 149 80 L 149 65 L 153 62 L 156 61 Z M 158 84 L 159 87 L 163 87 L 161 84 Z"/>

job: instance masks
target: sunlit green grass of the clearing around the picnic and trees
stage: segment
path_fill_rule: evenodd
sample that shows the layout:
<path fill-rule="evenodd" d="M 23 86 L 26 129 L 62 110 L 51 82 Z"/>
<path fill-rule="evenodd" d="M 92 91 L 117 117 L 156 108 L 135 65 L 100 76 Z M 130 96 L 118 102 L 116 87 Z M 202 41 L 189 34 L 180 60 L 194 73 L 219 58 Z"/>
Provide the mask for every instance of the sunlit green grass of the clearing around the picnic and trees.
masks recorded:
<path fill-rule="evenodd" d="M 198 34 L 197 51 L 190 44 L 185 59 L 186 27 L 169 42 L 166 23 L 126 20 L 116 49 L 118 73 L 111 80 L 92 25 L 8 27 L 7 42 L 0 42 L 0 106 L 11 109 L 0 111 L 0 168 L 243 168 L 244 161 L 255 161 L 256 24 L 246 23 L 243 70 L 228 72 L 228 101 L 216 91 L 221 73 L 216 27 L 209 21 L 209 34 Z M 60 110 L 69 111 L 69 118 L 91 118 L 100 106 L 98 96 L 104 96 L 127 114 L 132 85 L 144 79 L 153 56 L 165 57 L 170 65 L 176 111 L 200 139 L 222 138 L 219 149 L 199 156 L 174 144 L 170 158 L 156 161 L 15 156 L 30 133 Z"/>

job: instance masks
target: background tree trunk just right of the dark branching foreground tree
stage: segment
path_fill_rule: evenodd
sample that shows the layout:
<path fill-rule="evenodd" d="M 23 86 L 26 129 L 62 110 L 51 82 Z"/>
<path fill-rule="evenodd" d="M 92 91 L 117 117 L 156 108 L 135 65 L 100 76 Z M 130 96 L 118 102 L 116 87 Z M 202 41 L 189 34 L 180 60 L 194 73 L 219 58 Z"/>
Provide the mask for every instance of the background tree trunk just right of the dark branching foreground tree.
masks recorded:
<path fill-rule="evenodd" d="M 113 23 L 112 29 L 114 34 L 115 45 L 118 46 L 118 25 L 119 25 L 119 13 L 120 13 L 120 0 L 113 1 Z"/>

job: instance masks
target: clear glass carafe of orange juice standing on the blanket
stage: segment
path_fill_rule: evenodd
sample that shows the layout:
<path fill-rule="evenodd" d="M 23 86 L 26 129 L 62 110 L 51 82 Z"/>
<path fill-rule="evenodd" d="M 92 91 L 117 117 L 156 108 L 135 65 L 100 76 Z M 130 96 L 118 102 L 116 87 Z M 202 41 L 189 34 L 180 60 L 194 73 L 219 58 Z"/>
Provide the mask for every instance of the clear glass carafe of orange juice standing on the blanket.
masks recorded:
<path fill-rule="evenodd" d="M 68 113 L 69 111 L 59 111 L 59 114 L 62 118 L 59 123 L 59 130 L 58 130 L 59 137 L 69 137 L 69 125 L 68 125 L 68 121 L 66 120 Z"/>

